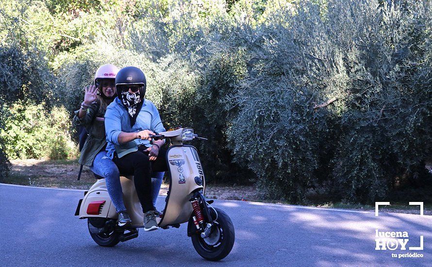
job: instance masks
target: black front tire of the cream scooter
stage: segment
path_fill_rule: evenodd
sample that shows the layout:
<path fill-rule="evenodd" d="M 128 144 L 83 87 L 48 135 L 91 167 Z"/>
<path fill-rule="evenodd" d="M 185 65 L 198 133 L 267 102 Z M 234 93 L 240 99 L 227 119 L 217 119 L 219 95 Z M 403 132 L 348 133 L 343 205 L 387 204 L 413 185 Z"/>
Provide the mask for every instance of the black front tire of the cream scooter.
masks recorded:
<path fill-rule="evenodd" d="M 191 236 L 192 244 L 198 254 L 206 260 L 218 261 L 225 258 L 233 249 L 234 245 L 234 225 L 230 217 L 221 209 L 215 208 L 217 211 L 216 226 L 221 230 L 219 241 L 215 246 L 211 246 L 204 242 L 204 239 L 199 234 L 193 234 Z M 214 211 L 210 208 L 212 216 Z M 195 227 L 195 226 L 194 226 Z"/>

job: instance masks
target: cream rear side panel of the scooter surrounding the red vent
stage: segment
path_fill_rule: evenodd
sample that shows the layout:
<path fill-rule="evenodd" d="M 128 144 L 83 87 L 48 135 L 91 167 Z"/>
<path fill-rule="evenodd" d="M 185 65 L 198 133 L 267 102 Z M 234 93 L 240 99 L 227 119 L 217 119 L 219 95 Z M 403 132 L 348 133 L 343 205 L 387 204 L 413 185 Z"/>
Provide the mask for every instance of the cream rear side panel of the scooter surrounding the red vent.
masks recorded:
<path fill-rule="evenodd" d="M 99 215 L 87 214 L 88 205 L 94 201 L 105 200 L 103 204 L 102 210 Z M 106 190 L 105 179 L 98 180 L 93 186 L 89 189 L 87 194 L 84 196 L 83 201 L 81 203 L 80 208 L 80 218 L 88 218 L 88 217 L 108 217 L 109 210 L 112 206 L 110 196 L 108 191 Z"/>

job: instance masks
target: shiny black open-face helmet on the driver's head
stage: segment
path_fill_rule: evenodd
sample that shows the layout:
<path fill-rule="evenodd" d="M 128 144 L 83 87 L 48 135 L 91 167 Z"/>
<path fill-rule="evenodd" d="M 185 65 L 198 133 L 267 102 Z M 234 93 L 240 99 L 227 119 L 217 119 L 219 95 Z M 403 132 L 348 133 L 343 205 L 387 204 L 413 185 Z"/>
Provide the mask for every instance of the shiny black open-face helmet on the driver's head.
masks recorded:
<path fill-rule="evenodd" d="M 140 98 L 144 99 L 146 94 L 146 76 L 144 72 L 137 67 L 124 67 L 117 72 L 116 75 L 116 89 L 122 91 L 125 89 L 135 87 L 139 89 Z"/>

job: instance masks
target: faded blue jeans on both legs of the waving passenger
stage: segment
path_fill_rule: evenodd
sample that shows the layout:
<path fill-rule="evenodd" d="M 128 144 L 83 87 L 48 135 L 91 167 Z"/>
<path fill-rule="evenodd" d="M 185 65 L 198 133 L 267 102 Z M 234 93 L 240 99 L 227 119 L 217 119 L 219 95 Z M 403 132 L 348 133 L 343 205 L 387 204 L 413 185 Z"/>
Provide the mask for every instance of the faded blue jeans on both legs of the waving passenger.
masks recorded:
<path fill-rule="evenodd" d="M 116 207 L 116 211 L 124 211 L 126 207 L 123 202 L 123 192 L 120 184 L 120 173 L 116 164 L 106 155 L 106 151 L 100 151 L 95 159 L 90 170 L 97 175 L 105 178 L 106 188 L 111 200 Z M 162 180 L 165 172 L 151 173 L 151 185 L 153 187 L 153 206 L 156 205 L 156 200 L 161 189 Z"/>

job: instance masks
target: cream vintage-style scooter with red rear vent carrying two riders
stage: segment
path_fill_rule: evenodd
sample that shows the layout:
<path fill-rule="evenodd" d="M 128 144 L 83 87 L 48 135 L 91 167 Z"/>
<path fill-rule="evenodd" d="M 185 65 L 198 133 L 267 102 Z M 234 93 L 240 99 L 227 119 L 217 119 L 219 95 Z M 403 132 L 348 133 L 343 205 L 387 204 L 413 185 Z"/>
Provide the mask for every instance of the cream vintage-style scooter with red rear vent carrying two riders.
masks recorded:
<path fill-rule="evenodd" d="M 179 128 L 151 136 L 153 140 L 168 138 L 171 141 L 166 152 L 170 175 L 165 209 L 156 218 L 159 228 L 179 228 L 187 222 L 187 236 L 198 254 L 206 260 L 225 258 L 234 245 L 234 226 L 230 217 L 221 209 L 212 207 L 213 200 L 204 198 L 205 179 L 195 147 L 183 145 L 194 138 L 192 128 Z M 123 199 L 132 219 L 132 226 L 125 229 L 117 224 L 118 215 L 111 202 L 105 179 L 99 179 L 84 192 L 79 201 L 76 216 L 87 219 L 93 240 L 102 247 L 113 247 L 119 242 L 138 236 L 138 228 L 144 227 L 144 214 L 135 191 L 133 176 L 121 176 Z"/>

